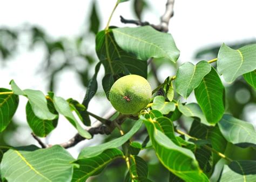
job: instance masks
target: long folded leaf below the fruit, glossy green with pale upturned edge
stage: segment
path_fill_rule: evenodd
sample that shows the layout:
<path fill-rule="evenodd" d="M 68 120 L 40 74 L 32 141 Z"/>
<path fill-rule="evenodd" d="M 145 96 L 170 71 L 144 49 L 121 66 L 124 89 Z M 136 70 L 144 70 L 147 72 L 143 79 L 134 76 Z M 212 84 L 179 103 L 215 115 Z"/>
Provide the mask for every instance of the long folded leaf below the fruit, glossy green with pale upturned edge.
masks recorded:
<path fill-rule="evenodd" d="M 185 181 L 209 181 L 190 150 L 174 144 L 152 121 L 144 119 L 144 123 L 158 159 L 169 171 Z"/>

